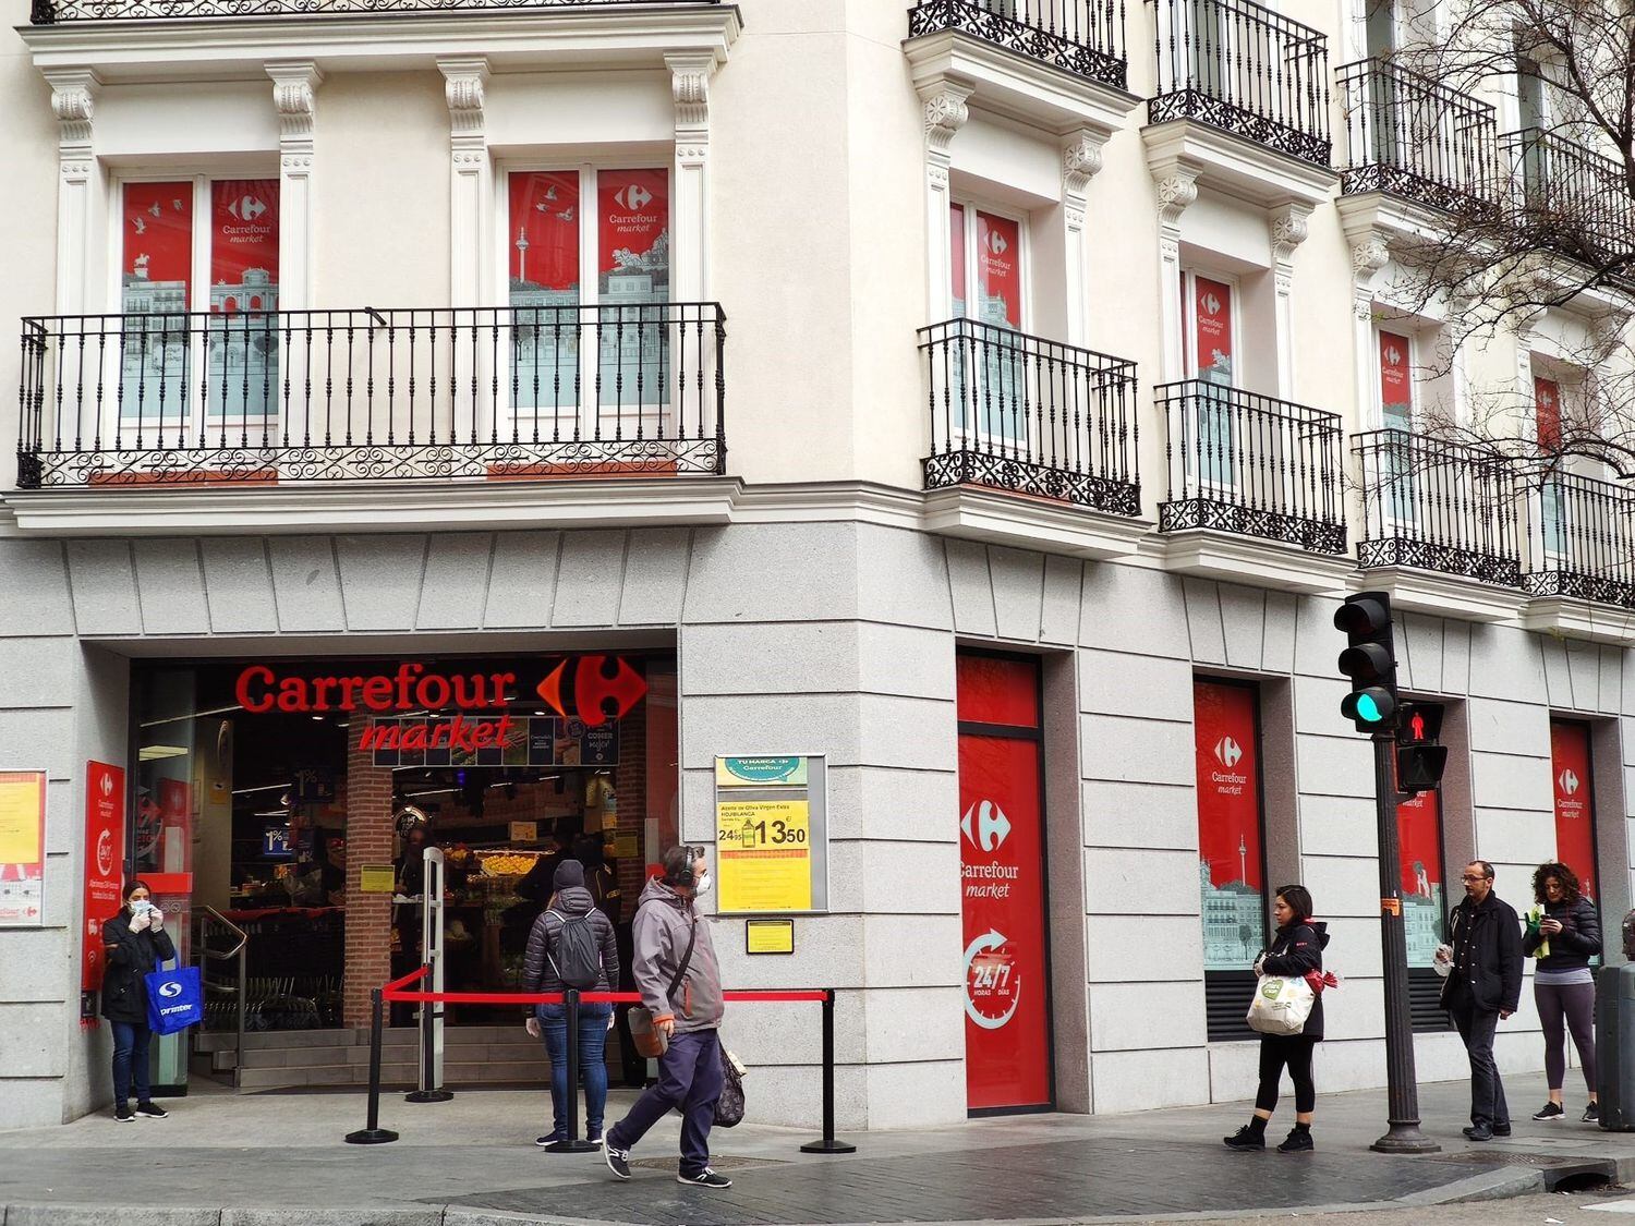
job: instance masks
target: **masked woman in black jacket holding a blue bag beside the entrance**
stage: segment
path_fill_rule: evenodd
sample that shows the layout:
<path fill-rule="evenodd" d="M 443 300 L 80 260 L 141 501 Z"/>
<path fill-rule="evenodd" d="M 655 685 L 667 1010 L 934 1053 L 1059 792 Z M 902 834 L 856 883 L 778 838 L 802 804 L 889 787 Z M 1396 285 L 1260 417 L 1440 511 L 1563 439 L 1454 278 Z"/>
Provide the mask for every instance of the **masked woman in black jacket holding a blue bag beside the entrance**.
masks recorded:
<path fill-rule="evenodd" d="M 132 881 L 124 888 L 124 906 L 103 924 L 103 950 L 108 968 L 103 973 L 103 1017 L 113 1027 L 113 1118 L 131 1123 L 164 1120 L 170 1112 L 159 1107 L 147 1084 L 147 1045 L 154 1031 L 147 1028 L 147 982 L 144 976 L 159 969 L 165 958 L 177 956 L 165 917 L 149 901 L 147 884 Z M 131 1108 L 131 1081 L 136 1081 L 136 1110 Z"/>

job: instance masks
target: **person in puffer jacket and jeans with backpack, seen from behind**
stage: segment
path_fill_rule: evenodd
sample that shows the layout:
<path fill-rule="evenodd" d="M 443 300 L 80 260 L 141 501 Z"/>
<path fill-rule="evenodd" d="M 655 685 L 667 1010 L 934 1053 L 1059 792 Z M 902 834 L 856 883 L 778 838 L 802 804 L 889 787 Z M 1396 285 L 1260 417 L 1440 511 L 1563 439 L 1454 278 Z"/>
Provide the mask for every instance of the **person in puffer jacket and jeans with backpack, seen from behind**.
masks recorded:
<path fill-rule="evenodd" d="M 551 906 L 533 922 L 528 953 L 523 956 L 522 991 L 610 992 L 618 984 L 618 942 L 613 925 L 585 889 L 585 866 L 562 860 L 551 878 Z M 608 1069 L 603 1063 L 613 1005 L 579 1005 L 579 1072 L 585 1082 L 585 1139 L 602 1141 L 602 1115 L 608 1100 Z M 528 1010 L 528 1033 L 543 1035 L 551 1058 L 553 1128 L 535 1144 L 554 1146 L 567 1139 L 567 1005 L 535 1005 Z"/>

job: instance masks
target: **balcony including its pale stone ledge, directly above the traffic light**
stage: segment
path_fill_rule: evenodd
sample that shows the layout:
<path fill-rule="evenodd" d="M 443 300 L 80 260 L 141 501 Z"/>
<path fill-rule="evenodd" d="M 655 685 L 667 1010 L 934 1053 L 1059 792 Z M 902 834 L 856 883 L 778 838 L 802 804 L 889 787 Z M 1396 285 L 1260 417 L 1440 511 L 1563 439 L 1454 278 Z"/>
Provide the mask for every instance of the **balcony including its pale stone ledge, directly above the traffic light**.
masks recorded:
<path fill-rule="evenodd" d="M 1408 430 L 1352 438 L 1362 482 L 1357 566 L 1396 603 L 1501 621 L 1521 608 L 1512 464 Z M 1503 590 L 1475 588 L 1476 580 Z"/>

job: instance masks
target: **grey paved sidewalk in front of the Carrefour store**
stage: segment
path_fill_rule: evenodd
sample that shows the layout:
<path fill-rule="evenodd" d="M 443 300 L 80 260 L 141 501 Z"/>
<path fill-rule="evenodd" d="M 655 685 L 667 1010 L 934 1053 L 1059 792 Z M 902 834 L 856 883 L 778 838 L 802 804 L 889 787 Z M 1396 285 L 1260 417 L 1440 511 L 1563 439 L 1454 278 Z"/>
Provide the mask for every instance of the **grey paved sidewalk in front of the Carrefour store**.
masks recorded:
<path fill-rule="evenodd" d="M 1517 1077 L 1517 1103 L 1542 1102 Z M 754 1077 L 746 1082 L 754 1118 Z M 531 1223 L 1146 1221 L 1352 1206 L 1429 1206 L 1537 1192 L 1563 1174 L 1635 1179 L 1635 1133 L 1519 1121 L 1472 1146 L 1467 1082 L 1421 1087 L 1437 1157 L 1367 1146 L 1385 1131 L 1383 1090 L 1318 1102 L 1316 1154 L 1236 1154 L 1220 1144 L 1248 1105 L 1138 1115 L 1035 1115 L 917 1133 L 852 1136 L 850 1156 L 800 1152 L 811 1133 L 744 1125 L 716 1133 L 724 1193 L 675 1183 L 677 1120 L 615 1182 L 600 1156 L 538 1151 L 549 1095 L 473 1090 L 446 1103 L 381 1102 L 386 1146 L 348 1146 L 363 1094 L 172 1100 L 170 1118 L 0 1131 L 3 1226 L 528 1226 Z M 608 1120 L 629 1094 L 615 1092 Z M 1292 1116 L 1290 1116 L 1292 1120 Z M 1274 1121 L 1274 1141 L 1287 1130 Z"/>

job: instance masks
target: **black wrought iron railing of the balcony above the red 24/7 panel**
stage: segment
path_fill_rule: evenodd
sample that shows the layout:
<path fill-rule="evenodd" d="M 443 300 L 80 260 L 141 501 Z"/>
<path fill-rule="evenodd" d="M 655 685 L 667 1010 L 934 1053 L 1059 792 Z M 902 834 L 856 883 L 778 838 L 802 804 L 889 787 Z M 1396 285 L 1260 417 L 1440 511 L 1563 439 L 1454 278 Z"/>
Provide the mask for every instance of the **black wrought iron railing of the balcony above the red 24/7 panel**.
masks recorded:
<path fill-rule="evenodd" d="M 950 319 L 921 329 L 925 489 L 989 485 L 1141 513 L 1135 363 Z"/>

